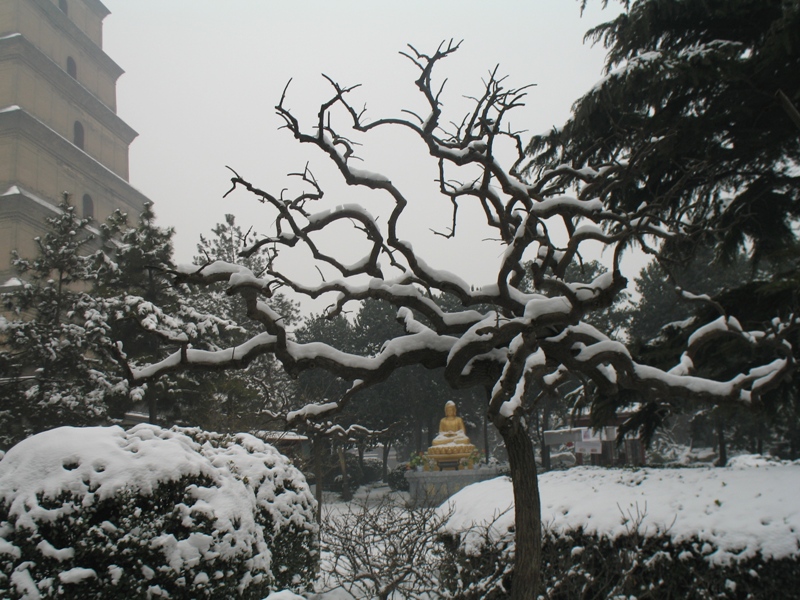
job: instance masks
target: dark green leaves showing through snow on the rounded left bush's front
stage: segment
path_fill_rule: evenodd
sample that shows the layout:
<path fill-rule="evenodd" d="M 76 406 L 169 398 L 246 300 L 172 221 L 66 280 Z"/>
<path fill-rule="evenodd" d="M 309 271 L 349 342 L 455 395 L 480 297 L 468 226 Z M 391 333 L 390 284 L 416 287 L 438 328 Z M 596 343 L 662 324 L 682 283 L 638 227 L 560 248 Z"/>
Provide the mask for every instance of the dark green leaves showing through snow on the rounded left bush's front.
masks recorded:
<path fill-rule="evenodd" d="M 13 560 L 3 556 L 2 572 L 11 574 L 27 567 L 33 581 L 49 580 L 50 585 L 41 590 L 44 598 L 146 598 L 147 590 L 156 586 L 175 598 L 214 598 L 215 592 L 236 587 L 244 575 L 243 561 L 221 559 L 216 564 L 203 565 L 200 570 L 217 571 L 222 575 L 221 580 L 192 585 L 193 576 L 197 575 L 194 570 L 176 573 L 169 568 L 159 568 L 164 564 L 164 555 L 155 543 L 162 534 L 174 535 L 179 540 L 192 534 L 213 535 L 212 521 L 195 519 L 192 527 L 186 528 L 177 510 L 178 504 L 192 502 L 187 495 L 189 486 L 210 483 L 202 477 L 184 477 L 163 482 L 152 496 L 126 491 L 42 523 L 35 532 L 15 527 L 11 521 L 8 523 L 10 532 L 3 538 L 19 548 L 21 557 Z M 81 506 L 81 501 L 77 495 L 63 493 L 47 502 L 41 501 L 40 505 L 58 509 L 68 504 Z M 4 506 L 0 508 L 0 522 L 7 520 L 8 507 Z M 40 544 L 72 548 L 74 555 L 68 560 L 46 558 L 39 551 Z M 91 568 L 96 577 L 78 584 L 59 582 L 59 573 L 79 566 Z M 0 593 L 4 598 L 23 597 L 15 593 L 15 586 L 8 579 L 0 580 Z"/>

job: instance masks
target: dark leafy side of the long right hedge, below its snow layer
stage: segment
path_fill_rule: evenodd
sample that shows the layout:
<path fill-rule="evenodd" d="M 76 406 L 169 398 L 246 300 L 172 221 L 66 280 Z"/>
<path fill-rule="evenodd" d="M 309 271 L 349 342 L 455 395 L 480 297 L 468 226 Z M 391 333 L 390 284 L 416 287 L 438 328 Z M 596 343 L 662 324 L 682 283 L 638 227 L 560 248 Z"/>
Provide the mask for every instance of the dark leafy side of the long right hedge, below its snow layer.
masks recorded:
<path fill-rule="evenodd" d="M 486 539 L 486 538 L 484 538 Z M 457 539 L 445 540 L 443 582 L 448 598 L 509 598 L 513 541 L 486 543 L 466 554 Z M 615 540 L 583 531 L 545 532 L 542 576 L 549 600 L 712 598 L 790 600 L 796 597 L 800 562 L 756 556 L 728 566 L 712 565 L 713 548 L 697 540 L 635 532 Z"/>

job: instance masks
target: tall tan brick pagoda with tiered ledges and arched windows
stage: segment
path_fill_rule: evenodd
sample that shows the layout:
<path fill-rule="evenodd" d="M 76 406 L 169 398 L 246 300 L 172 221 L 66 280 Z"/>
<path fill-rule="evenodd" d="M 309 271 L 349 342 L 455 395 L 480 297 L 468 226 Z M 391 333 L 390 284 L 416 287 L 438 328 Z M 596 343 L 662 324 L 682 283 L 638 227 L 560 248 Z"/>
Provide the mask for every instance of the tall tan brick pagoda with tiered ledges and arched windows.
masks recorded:
<path fill-rule="evenodd" d="M 0 0 L 0 285 L 12 250 L 36 255 L 65 193 L 96 222 L 148 201 L 128 181 L 137 133 L 116 112 L 108 14 L 100 0 Z"/>

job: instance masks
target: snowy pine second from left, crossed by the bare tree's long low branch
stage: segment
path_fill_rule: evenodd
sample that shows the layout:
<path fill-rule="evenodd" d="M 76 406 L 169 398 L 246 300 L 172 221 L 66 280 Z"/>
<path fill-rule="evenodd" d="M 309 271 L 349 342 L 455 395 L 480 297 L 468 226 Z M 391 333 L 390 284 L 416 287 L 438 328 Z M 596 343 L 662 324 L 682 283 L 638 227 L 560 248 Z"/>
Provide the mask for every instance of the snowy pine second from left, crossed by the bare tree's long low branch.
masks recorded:
<path fill-rule="evenodd" d="M 94 294 L 108 312 L 112 337 L 131 364 L 158 360 L 164 352 L 186 344 L 216 349 L 241 328 L 225 314 L 210 315 L 192 304 L 189 286 L 175 284 L 172 228 L 156 224 L 147 203 L 133 225 L 117 211 L 101 228 L 105 252 L 96 255 Z M 208 375 L 177 373 L 135 390 L 136 402 L 117 407 L 114 416 L 142 406 L 151 423 L 207 425 Z M 218 379 L 218 378 L 217 378 Z"/>

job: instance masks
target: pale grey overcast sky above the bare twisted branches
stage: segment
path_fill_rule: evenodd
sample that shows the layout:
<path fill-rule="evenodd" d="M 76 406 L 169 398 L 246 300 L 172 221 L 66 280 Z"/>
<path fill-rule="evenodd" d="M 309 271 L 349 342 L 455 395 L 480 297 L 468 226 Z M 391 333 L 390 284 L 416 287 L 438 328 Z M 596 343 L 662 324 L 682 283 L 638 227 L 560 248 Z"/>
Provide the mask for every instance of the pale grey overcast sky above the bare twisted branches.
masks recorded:
<path fill-rule="evenodd" d="M 126 71 L 117 88 L 118 113 L 139 132 L 130 180 L 156 203 L 159 223 L 176 229 L 181 262 L 225 213 L 245 229 L 269 231 L 254 199 L 222 199 L 230 179 L 226 165 L 275 192 L 306 161 L 327 175 L 319 153 L 298 148 L 278 129 L 274 106 L 290 78 L 288 103 L 301 116 L 311 117 L 328 98 L 322 73 L 342 84 L 362 83 L 357 101 L 373 117 L 396 116 L 420 106 L 415 69 L 399 51 L 410 43 L 433 52 L 442 40 L 463 40 L 439 70 L 440 79 L 448 79 L 445 101 L 480 93 L 481 78 L 499 65 L 509 85 L 536 84 L 512 123 L 538 133 L 560 125 L 571 103 L 601 78 L 605 51 L 584 44 L 583 35 L 617 12 L 601 10 L 600 0 L 583 16 L 579 3 L 569 0 L 104 3 L 111 11 L 104 49 Z M 379 165 L 416 172 L 399 147 Z M 485 269 L 489 277 L 498 252 L 479 250 L 470 273 L 480 278 Z M 438 266 L 455 270 L 455 259 L 447 257 L 461 256 L 460 250 L 434 252 L 442 255 Z"/>

